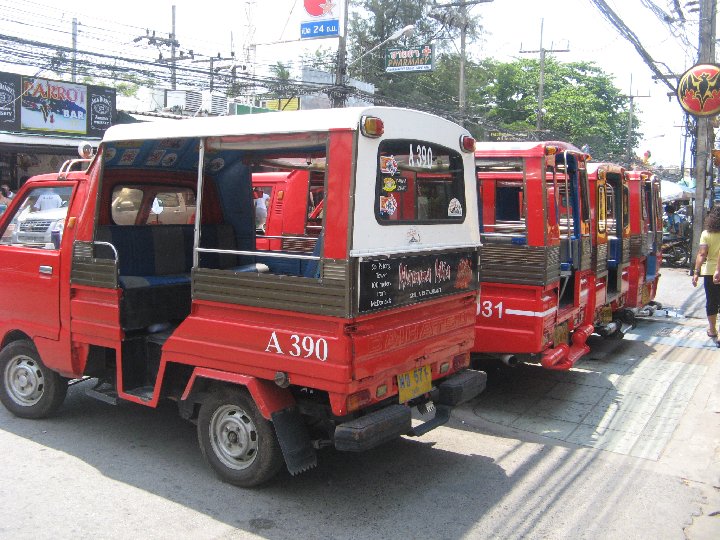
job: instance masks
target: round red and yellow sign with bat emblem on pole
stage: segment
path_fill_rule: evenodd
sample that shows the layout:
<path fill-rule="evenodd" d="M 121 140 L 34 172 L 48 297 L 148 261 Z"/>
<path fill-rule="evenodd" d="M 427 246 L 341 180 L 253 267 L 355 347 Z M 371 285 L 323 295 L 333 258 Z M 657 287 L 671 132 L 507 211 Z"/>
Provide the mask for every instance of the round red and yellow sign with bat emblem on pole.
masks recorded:
<path fill-rule="evenodd" d="M 688 69 L 680 77 L 677 97 L 685 112 L 693 116 L 720 113 L 720 66 L 696 64 Z"/>

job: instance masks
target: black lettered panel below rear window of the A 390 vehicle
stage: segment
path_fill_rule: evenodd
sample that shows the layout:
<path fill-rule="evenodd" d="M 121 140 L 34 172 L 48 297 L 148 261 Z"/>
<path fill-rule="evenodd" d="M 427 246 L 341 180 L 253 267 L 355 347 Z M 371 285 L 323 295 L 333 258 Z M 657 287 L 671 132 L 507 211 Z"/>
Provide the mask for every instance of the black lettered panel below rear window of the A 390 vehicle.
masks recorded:
<path fill-rule="evenodd" d="M 360 262 L 360 313 L 475 289 L 475 251 L 378 257 Z"/>

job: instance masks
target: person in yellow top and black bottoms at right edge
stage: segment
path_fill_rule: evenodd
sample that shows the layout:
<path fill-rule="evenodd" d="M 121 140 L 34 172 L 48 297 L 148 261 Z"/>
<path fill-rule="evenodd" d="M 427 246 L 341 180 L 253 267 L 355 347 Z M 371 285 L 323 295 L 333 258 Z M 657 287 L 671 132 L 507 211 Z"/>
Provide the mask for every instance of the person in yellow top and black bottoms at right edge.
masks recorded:
<path fill-rule="evenodd" d="M 692 283 L 697 287 L 703 276 L 705 287 L 705 313 L 708 318 L 707 335 L 717 339 L 717 314 L 720 311 L 720 206 L 713 206 L 705 218 L 705 228 L 700 235 L 700 245 L 695 258 Z"/>

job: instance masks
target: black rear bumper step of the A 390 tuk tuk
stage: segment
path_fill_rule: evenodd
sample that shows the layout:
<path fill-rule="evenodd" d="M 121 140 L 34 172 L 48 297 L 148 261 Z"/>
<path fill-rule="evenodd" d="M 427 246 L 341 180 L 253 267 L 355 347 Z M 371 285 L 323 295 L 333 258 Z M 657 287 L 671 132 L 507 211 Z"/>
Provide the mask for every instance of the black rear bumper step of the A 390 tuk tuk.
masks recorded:
<path fill-rule="evenodd" d="M 335 448 L 346 452 L 364 452 L 401 435 L 419 436 L 443 425 L 450 419 L 452 408 L 479 395 L 487 382 L 483 371 L 466 369 L 445 379 L 430 393 L 435 403 L 435 416 L 412 426 L 411 408 L 395 404 L 374 411 L 335 428 Z"/>

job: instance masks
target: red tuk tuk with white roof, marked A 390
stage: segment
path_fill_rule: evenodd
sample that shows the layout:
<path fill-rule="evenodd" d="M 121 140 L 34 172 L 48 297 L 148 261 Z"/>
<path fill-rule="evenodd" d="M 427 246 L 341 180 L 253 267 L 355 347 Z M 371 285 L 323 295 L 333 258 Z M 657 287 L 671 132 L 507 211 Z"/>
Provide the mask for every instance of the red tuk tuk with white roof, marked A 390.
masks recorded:
<path fill-rule="evenodd" d="M 108 403 L 175 401 L 240 486 L 441 425 L 485 385 L 467 369 L 473 147 L 452 122 L 383 107 L 110 128 L 87 171 L 29 180 L 0 218 L 0 400 L 44 417 L 89 378 Z M 256 173 L 302 177 L 274 194 L 301 216 L 314 186 L 332 203 L 293 231 L 304 244 L 269 249 Z M 56 240 L 23 240 L 41 198 L 65 209 Z"/>

